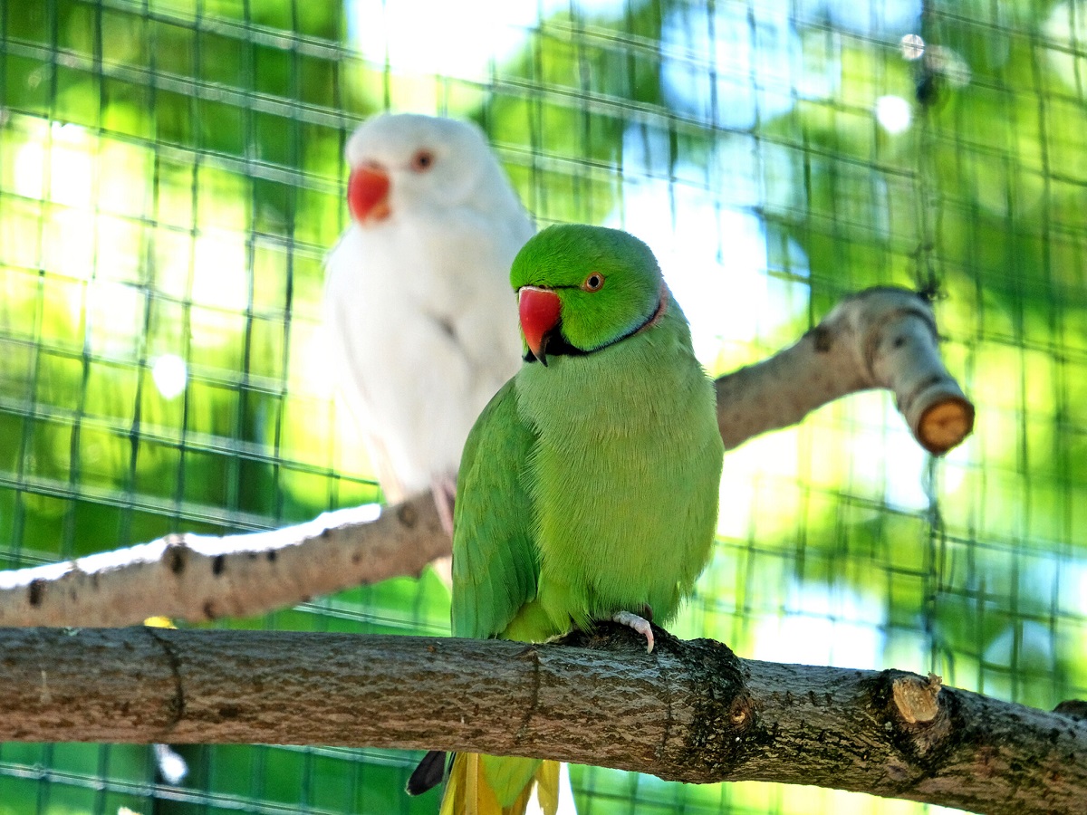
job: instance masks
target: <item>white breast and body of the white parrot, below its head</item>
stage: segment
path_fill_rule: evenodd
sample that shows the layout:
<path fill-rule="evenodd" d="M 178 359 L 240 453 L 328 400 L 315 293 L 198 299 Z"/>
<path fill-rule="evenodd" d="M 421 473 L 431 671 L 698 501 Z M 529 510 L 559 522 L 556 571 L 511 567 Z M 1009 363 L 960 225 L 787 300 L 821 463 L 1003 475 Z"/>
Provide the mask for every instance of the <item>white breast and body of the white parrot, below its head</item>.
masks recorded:
<path fill-rule="evenodd" d="M 455 473 L 476 416 L 520 364 L 509 267 L 521 238 L 487 226 L 471 211 L 395 212 L 350 227 L 328 258 L 341 389 L 409 492 Z"/>

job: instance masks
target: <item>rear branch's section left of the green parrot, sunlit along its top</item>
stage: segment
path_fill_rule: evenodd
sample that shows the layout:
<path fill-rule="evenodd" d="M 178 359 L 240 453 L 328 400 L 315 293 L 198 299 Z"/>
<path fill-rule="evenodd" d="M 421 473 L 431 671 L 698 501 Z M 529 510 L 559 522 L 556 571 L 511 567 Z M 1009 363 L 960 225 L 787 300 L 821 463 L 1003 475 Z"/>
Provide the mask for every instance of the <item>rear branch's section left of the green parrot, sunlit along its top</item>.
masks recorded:
<path fill-rule="evenodd" d="M 250 616 L 314 594 L 418 575 L 450 552 L 429 494 L 373 515 L 370 507 L 355 507 L 250 535 L 167 535 L 65 563 L 0 572 L 0 626 Z"/>

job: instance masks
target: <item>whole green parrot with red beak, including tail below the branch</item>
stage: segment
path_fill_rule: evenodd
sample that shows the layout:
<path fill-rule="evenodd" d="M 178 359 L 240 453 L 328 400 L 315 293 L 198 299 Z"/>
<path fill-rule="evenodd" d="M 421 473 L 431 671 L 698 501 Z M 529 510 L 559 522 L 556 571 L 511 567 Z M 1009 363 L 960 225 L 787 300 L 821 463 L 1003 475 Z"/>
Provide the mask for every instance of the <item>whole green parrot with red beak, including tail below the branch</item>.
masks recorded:
<path fill-rule="evenodd" d="M 539 642 L 595 620 L 653 649 L 713 546 L 724 447 L 713 385 L 649 247 L 551 226 L 522 248 L 524 362 L 476 419 L 453 516 L 452 631 Z M 408 783 L 440 781 L 442 753 Z M 559 764 L 459 753 L 441 815 L 558 805 Z"/>

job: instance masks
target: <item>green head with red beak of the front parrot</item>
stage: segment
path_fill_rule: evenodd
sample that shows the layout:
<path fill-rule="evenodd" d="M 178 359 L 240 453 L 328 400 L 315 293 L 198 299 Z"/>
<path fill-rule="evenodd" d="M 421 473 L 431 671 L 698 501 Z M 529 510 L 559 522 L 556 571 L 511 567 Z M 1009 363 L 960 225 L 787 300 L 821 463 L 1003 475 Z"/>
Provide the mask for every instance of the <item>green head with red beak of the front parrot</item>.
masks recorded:
<path fill-rule="evenodd" d="M 667 289 L 649 247 L 619 229 L 548 227 L 513 260 L 526 360 L 599 351 L 651 326 Z"/>

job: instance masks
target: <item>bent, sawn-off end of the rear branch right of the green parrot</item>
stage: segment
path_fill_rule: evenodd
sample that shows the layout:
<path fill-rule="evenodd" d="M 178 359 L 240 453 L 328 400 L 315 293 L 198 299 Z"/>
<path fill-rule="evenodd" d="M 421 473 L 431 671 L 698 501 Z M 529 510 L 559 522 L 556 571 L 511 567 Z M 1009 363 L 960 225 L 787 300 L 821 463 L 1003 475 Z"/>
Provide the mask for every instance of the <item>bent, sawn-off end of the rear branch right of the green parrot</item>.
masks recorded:
<path fill-rule="evenodd" d="M 917 442 L 946 453 L 973 429 L 974 405 L 944 366 L 938 340 L 932 306 L 916 292 L 874 288 L 844 300 L 791 348 L 717 379 L 725 448 L 849 393 L 886 388 Z"/>

